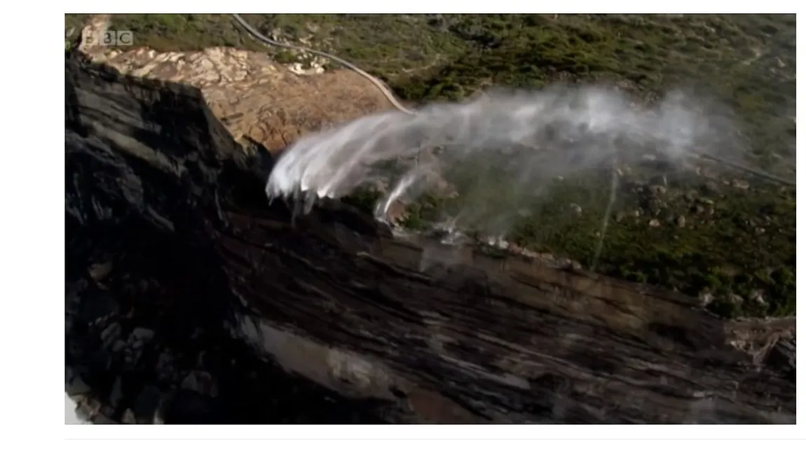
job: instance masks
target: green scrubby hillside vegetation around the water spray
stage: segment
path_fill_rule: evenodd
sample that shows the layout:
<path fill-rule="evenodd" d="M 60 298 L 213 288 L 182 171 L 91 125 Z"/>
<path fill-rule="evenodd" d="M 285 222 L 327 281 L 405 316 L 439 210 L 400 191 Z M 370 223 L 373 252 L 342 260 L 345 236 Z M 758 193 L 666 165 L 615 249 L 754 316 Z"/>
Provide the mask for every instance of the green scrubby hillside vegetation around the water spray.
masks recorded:
<path fill-rule="evenodd" d="M 670 88 L 696 89 L 736 113 L 746 135 L 745 159 L 794 179 L 794 15 L 247 14 L 245 19 L 267 35 L 352 60 L 413 102 L 459 99 L 491 85 L 540 88 L 558 80 L 616 83 L 649 101 Z M 76 23 L 80 17 L 68 17 L 65 28 Z M 158 50 L 226 45 L 268 51 L 277 60 L 297 58 L 255 43 L 226 15 L 116 15 L 113 27 L 134 31 L 138 45 Z M 750 187 L 734 187 L 733 178 L 737 175 L 673 179 L 654 195 L 649 183 L 636 188 L 635 181 L 625 180 L 601 270 L 688 294 L 714 294 L 711 307 L 724 315 L 793 314 L 794 187 L 747 176 L 742 178 Z M 513 240 L 588 263 L 606 184 L 603 178 L 558 187 L 552 204 L 519 220 Z M 563 210 L 570 203 L 579 204 L 581 214 Z M 424 202 L 410 221 L 422 223 L 433 211 Z M 650 220 L 659 225 L 650 227 Z M 752 302 L 758 294 L 766 303 Z"/>

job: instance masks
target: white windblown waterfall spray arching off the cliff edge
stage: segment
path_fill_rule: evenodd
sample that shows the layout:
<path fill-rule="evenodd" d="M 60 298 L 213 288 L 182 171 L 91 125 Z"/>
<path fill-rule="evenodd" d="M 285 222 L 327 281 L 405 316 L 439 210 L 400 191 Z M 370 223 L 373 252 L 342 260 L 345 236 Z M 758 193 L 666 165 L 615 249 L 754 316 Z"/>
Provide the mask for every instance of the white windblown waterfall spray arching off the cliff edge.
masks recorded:
<path fill-rule="evenodd" d="M 461 206 L 443 220 L 497 236 L 558 177 L 610 171 L 646 154 L 674 164 L 694 150 L 719 152 L 731 137 L 725 117 L 682 93 L 651 108 L 597 87 L 498 93 L 307 135 L 282 154 L 266 192 L 270 199 L 306 192 L 338 198 L 383 178 L 388 195 L 376 215 L 384 220 L 396 200 L 449 186 Z"/>

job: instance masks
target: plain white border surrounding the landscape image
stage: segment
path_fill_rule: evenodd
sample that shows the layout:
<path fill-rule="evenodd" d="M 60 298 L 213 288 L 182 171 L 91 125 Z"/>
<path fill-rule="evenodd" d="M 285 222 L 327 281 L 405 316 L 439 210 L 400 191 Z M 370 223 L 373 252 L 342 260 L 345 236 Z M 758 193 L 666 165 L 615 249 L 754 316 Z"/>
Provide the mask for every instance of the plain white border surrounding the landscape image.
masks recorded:
<path fill-rule="evenodd" d="M 55 6 L 51 3 L 48 6 Z M 703 2 L 678 0 L 667 4 L 642 1 L 565 1 L 534 2 L 496 0 L 494 2 L 423 0 L 339 0 L 339 2 L 301 1 L 246 2 L 226 0 L 210 2 L 137 2 L 84 1 L 72 2 L 69 11 L 137 12 L 795 12 L 796 2 Z M 729 448 L 730 451 L 762 451 L 767 448 L 791 448 L 779 443 L 764 444 L 737 439 L 804 439 L 802 426 L 92 426 L 64 425 L 59 397 L 64 397 L 64 142 L 62 68 L 64 58 L 64 17 L 49 13 L 50 8 L 34 2 L 9 2 L 3 27 L 5 141 L 2 169 L 2 261 L 6 267 L 2 287 L 2 352 L 4 376 L 4 424 L 12 427 L 12 435 L 21 442 L 53 443 L 65 438 L 84 439 L 543 439 L 533 447 L 567 448 L 567 441 L 546 439 L 733 439 L 729 443 L 701 443 L 700 447 Z M 135 37 L 136 39 L 136 37 Z M 800 32 L 798 33 L 800 42 Z M 798 56 L 800 56 L 800 50 Z M 800 106 L 800 98 L 798 99 Z M 10 126 L 10 127 L 9 127 Z M 800 128 L 798 129 L 800 132 Z M 800 175 L 798 176 L 800 179 Z M 800 212 L 798 212 L 800 220 Z M 799 222 L 800 223 L 800 222 Z M 800 239 L 800 232 L 798 233 Z M 798 255 L 802 249 L 798 241 Z M 803 271 L 798 271 L 798 280 Z M 800 294 L 799 294 L 800 296 Z M 798 298 L 800 300 L 800 297 Z M 800 326 L 799 326 L 800 327 Z M 798 387 L 802 384 L 798 378 Z M 803 412 L 803 400 L 798 413 Z M 804 418 L 804 415 L 800 415 Z M 804 420 L 800 420 L 803 424 Z M 6 434 L 7 435 L 7 434 Z M 14 448 L 15 442 L 4 439 Z M 60 441 L 61 444 L 63 441 Z M 108 450 L 127 451 L 156 447 L 152 442 L 115 443 L 70 441 L 56 448 L 87 451 L 98 446 Z M 391 451 L 426 447 L 411 442 L 351 442 L 351 450 L 383 448 Z M 496 441 L 495 447 L 499 447 Z M 517 441 L 515 441 L 517 442 Z M 679 451 L 678 442 L 649 441 L 613 445 L 620 451 L 634 447 Z M 240 445 L 241 443 L 239 443 Z M 164 445 L 164 441 L 160 446 Z M 185 443 L 183 443 L 183 446 Z M 526 444 L 518 444 L 526 447 Z M 224 444 L 210 441 L 193 442 L 198 448 L 220 448 Z M 287 445 L 285 447 L 295 447 Z M 444 448 L 446 443 L 430 441 L 429 446 Z M 167 447 L 167 446 L 166 446 Z M 243 444 L 251 447 L 251 443 Z M 271 447 L 284 447 L 272 444 Z M 319 445 L 318 445 L 319 447 Z M 332 448 L 331 444 L 321 447 Z M 451 447 L 484 448 L 491 443 L 463 442 Z M 507 443 L 501 447 L 516 447 Z M 583 447 L 583 446 L 580 446 Z M 586 442 L 584 448 L 604 445 Z M 30 446 L 27 449 L 31 448 Z M 33 447 L 35 448 L 35 447 Z M 123 450 L 121 450 L 123 448 Z M 500 447 L 499 447 L 500 448 Z"/>

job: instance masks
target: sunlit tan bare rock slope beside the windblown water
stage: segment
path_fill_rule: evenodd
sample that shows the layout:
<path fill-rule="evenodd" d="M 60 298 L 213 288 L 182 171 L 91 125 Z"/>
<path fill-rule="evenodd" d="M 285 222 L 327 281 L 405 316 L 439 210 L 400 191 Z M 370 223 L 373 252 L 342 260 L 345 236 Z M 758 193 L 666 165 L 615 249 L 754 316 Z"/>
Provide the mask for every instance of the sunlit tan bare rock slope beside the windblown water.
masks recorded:
<path fill-rule="evenodd" d="M 99 35 L 107 16 L 93 15 L 83 35 Z M 265 54 L 234 47 L 160 53 L 147 47 L 122 51 L 97 41 L 81 43 L 79 50 L 90 61 L 145 80 L 197 88 L 236 140 L 268 150 L 285 148 L 301 134 L 392 108 L 383 93 L 353 71 L 298 76 Z"/>

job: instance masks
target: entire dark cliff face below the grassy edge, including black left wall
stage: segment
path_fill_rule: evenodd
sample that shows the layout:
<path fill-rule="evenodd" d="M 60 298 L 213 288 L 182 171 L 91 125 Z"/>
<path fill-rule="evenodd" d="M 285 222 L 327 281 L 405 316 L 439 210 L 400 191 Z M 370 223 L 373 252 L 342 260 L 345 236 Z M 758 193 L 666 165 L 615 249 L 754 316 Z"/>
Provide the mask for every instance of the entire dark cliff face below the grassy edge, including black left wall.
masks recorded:
<path fill-rule="evenodd" d="M 197 90 L 65 72 L 65 359 L 96 422 L 795 422 L 793 336 L 754 361 L 673 294 L 338 202 L 292 224 Z"/>

